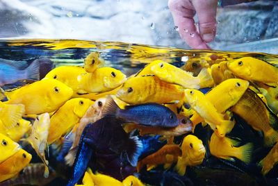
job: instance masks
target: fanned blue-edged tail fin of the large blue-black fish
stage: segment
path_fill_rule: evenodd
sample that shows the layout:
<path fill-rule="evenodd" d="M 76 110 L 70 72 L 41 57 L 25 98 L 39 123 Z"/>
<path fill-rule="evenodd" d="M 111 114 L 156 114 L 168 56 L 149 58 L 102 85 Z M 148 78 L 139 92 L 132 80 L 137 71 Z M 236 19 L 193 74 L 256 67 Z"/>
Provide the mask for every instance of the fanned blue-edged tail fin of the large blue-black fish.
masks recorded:
<path fill-rule="evenodd" d="M 136 167 L 138 158 L 141 155 L 142 150 L 143 150 L 143 144 L 137 136 L 130 137 L 130 140 L 131 140 L 131 144 L 127 151 L 127 155 L 128 155 L 129 162 L 131 163 L 131 165 L 133 167 Z"/>

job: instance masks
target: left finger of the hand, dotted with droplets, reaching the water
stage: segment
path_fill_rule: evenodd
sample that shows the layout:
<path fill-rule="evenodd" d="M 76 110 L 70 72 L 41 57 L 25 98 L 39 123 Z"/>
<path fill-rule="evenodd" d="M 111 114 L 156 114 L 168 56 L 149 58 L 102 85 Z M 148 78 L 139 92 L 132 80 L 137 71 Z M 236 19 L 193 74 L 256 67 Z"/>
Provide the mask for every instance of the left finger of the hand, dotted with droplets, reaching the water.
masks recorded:
<path fill-rule="evenodd" d="M 170 0 L 168 6 L 181 38 L 193 49 L 210 49 L 196 30 L 192 4 L 188 1 Z"/>

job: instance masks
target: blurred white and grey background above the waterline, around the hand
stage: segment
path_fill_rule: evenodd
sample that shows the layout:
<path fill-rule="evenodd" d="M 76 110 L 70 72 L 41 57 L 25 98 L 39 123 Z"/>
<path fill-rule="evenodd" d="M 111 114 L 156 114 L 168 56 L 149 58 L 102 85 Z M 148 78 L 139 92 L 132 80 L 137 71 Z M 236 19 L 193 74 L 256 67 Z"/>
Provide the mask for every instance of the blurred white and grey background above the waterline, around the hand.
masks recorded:
<path fill-rule="evenodd" d="M 278 54 L 278 1 L 218 8 L 213 49 Z M 197 25 L 196 25 L 197 26 Z M 0 0 L 0 37 L 131 42 L 190 49 L 167 0 Z"/>

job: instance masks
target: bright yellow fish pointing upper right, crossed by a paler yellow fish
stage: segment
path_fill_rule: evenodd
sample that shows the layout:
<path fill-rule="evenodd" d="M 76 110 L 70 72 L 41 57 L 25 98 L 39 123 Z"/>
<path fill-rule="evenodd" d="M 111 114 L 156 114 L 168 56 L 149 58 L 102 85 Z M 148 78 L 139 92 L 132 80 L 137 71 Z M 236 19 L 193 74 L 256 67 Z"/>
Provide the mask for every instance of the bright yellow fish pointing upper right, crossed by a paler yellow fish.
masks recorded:
<path fill-rule="evenodd" d="M 249 86 L 249 82 L 239 78 L 230 78 L 205 94 L 206 99 L 210 101 L 219 113 L 224 113 L 231 106 L 235 105 L 243 96 Z M 190 118 L 193 126 L 204 121 L 197 112 Z"/>

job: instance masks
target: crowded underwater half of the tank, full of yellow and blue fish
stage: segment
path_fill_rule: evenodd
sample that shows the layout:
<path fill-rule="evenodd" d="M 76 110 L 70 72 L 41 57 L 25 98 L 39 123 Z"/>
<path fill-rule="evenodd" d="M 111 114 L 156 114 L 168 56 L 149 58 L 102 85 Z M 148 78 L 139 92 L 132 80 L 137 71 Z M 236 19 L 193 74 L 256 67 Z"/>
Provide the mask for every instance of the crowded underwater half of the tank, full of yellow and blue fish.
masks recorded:
<path fill-rule="evenodd" d="M 278 56 L 0 40 L 0 185 L 278 185 Z"/>

